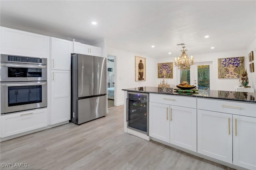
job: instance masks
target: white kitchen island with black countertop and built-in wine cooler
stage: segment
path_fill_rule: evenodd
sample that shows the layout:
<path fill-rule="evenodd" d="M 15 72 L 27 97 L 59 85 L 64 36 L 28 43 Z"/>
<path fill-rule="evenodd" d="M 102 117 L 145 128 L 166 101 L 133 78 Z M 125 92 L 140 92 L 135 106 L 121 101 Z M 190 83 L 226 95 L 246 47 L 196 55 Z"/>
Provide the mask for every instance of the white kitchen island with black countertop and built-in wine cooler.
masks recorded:
<path fill-rule="evenodd" d="M 128 126 L 135 114 L 130 111 L 134 104 L 129 103 L 129 93 L 148 94 L 146 134 Z M 256 93 L 179 94 L 173 88 L 138 87 L 124 89 L 124 98 L 125 132 L 232 168 L 256 169 Z"/>

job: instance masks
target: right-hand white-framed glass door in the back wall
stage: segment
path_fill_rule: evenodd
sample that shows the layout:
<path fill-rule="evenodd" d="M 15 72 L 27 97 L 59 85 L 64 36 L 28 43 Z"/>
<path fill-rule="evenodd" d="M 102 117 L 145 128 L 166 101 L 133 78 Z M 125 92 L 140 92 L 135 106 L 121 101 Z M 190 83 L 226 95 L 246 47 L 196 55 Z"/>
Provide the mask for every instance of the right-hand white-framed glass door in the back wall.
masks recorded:
<path fill-rule="evenodd" d="M 210 90 L 212 89 L 212 62 L 198 62 L 190 67 L 191 85 L 198 86 L 198 89 Z"/>

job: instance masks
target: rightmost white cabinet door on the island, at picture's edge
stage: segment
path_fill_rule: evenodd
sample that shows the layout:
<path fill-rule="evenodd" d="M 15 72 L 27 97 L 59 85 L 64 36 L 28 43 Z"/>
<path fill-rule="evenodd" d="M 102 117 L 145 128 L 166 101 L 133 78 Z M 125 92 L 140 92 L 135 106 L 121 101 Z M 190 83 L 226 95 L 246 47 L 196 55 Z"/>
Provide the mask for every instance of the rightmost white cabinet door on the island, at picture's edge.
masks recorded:
<path fill-rule="evenodd" d="M 233 115 L 233 164 L 256 170 L 256 118 Z"/>

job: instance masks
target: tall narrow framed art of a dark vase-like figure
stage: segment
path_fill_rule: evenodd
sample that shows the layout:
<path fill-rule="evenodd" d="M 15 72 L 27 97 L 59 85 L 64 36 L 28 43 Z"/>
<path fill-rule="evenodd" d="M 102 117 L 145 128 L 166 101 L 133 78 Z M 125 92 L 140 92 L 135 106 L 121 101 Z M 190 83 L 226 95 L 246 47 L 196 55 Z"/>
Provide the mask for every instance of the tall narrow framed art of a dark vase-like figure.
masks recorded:
<path fill-rule="evenodd" d="M 135 81 L 146 81 L 146 58 L 135 56 Z"/>

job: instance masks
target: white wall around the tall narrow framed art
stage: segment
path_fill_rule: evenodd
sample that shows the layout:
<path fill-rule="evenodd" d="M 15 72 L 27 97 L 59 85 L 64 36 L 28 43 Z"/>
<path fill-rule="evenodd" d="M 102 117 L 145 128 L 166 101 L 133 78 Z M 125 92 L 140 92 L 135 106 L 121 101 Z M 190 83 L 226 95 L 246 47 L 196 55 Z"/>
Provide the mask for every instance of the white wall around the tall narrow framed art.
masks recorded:
<path fill-rule="evenodd" d="M 108 48 L 107 53 L 116 56 L 116 106 L 124 104 L 122 89 L 157 86 L 155 81 L 157 77 L 156 59 L 114 48 Z M 135 81 L 135 56 L 146 58 L 146 81 Z"/>

